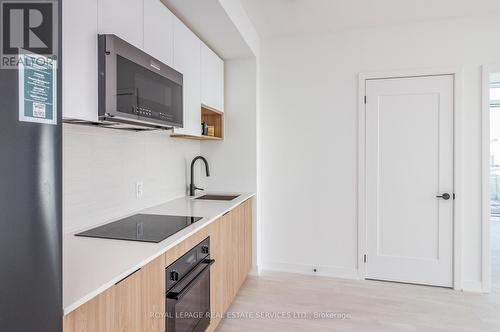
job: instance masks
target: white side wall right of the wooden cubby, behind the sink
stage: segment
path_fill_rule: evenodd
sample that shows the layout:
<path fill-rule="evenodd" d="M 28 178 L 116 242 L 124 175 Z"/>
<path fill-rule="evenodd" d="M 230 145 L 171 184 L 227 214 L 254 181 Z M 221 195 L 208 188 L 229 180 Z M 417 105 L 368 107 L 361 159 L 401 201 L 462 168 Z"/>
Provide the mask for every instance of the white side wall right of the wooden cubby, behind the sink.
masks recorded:
<path fill-rule="evenodd" d="M 225 131 L 223 141 L 204 141 L 201 153 L 210 164 L 203 187 L 221 192 L 257 191 L 257 68 L 256 59 L 227 60 L 224 64 Z M 259 263 L 257 204 L 253 204 L 253 265 Z"/>

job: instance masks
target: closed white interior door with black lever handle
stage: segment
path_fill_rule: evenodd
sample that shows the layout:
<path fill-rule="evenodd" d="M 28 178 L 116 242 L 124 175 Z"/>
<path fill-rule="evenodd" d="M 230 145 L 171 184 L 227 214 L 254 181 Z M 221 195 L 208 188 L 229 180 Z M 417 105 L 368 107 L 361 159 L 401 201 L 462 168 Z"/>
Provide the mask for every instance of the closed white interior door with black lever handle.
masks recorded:
<path fill-rule="evenodd" d="M 367 80 L 366 97 L 366 277 L 452 287 L 454 76 Z"/>

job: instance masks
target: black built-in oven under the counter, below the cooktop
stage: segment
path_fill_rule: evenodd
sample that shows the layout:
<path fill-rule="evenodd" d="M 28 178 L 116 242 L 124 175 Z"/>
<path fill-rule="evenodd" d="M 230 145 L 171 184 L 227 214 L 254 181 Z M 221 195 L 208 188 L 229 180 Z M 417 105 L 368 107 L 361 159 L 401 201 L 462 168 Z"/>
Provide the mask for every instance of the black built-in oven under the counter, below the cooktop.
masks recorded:
<path fill-rule="evenodd" d="M 167 332 L 201 332 L 210 325 L 210 237 L 166 269 Z"/>

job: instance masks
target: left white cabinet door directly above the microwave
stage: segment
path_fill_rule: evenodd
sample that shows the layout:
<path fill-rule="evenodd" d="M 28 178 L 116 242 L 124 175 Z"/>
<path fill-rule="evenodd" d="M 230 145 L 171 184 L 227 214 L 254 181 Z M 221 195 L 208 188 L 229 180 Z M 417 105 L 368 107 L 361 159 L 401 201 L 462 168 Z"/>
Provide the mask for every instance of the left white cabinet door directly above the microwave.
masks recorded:
<path fill-rule="evenodd" d="M 142 50 L 143 5 L 143 0 L 99 0 L 99 33 L 115 34 Z"/>

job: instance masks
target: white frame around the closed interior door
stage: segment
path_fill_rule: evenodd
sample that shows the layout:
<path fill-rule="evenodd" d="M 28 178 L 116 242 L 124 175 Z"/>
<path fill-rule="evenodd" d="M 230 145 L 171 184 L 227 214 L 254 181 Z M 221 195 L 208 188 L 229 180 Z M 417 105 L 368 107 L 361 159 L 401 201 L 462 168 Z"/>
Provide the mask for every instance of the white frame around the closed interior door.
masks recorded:
<path fill-rule="evenodd" d="M 366 278 L 364 255 L 367 248 L 366 227 L 366 81 L 389 78 L 411 78 L 422 76 L 453 75 L 453 181 L 456 198 L 453 205 L 453 289 L 462 290 L 462 234 L 463 234 L 463 115 L 462 87 L 463 69 L 461 67 L 428 68 L 414 70 L 391 70 L 359 74 L 358 82 L 358 277 Z M 368 257 L 369 259 L 369 257 Z"/>

